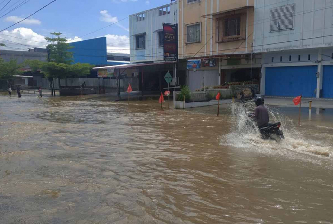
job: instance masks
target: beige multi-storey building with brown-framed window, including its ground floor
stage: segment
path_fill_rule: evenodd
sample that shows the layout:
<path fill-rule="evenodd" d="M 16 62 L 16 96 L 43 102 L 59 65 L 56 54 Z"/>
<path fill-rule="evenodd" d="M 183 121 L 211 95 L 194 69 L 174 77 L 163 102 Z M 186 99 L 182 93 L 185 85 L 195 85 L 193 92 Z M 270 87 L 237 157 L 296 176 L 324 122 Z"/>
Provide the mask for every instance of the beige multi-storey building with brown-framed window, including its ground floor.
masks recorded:
<path fill-rule="evenodd" d="M 260 81 L 252 54 L 254 0 L 179 0 L 180 61 L 190 90 L 224 82 Z"/>

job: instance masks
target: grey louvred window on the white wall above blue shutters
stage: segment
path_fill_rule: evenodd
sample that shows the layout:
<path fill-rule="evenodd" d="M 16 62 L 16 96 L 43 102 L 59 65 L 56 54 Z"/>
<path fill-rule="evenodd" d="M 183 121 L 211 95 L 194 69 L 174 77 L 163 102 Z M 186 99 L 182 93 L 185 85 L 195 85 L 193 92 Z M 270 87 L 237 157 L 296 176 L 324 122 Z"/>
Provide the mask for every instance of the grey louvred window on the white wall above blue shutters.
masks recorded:
<path fill-rule="evenodd" d="M 295 4 L 270 9 L 269 31 L 292 30 L 294 28 Z"/>

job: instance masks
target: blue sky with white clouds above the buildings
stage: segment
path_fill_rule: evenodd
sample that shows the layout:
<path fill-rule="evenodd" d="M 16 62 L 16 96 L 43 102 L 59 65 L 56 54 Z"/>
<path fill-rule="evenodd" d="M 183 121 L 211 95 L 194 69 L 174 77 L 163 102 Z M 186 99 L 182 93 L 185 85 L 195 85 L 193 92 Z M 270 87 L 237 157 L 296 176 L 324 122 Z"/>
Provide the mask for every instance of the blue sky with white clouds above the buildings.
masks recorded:
<path fill-rule="evenodd" d="M 0 18 L 0 30 L 14 24 L 20 18 L 27 17 L 51 0 L 0 0 L 0 9 L 8 3 L 0 11 L 0 17 L 24 2 L 26 3 L 23 6 Z M 168 3 L 170 0 L 57 0 L 29 19 L 0 33 L 38 42 L 0 35 L 2 38 L 0 43 L 5 43 L 6 46 L 11 47 L 7 49 L 12 50 L 28 48 L 17 43 L 31 47 L 43 46 L 44 44 L 39 42 L 45 42 L 44 37 L 49 36 L 50 32 L 62 32 L 68 39 L 74 39 L 126 18 L 130 14 Z M 129 42 L 126 41 L 129 36 L 128 27 L 128 19 L 125 19 L 117 25 L 114 24 L 96 33 L 76 39 L 76 41 L 106 36 L 107 44 L 111 45 L 108 48 L 109 51 L 126 49 L 129 48 Z M 17 43 L 14 44 L 10 41 Z M 117 42 L 117 44 L 113 45 L 113 42 Z M 126 52 L 124 51 L 124 53 Z"/>

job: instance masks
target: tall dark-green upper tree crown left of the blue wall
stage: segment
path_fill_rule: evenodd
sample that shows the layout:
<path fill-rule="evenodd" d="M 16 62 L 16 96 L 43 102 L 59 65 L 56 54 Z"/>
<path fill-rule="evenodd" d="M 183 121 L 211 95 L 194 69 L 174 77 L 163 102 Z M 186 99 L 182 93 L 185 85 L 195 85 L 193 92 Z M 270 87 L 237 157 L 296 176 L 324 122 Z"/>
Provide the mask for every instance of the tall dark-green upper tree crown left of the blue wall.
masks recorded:
<path fill-rule="evenodd" d="M 62 33 L 52 32 L 56 37 L 45 37 L 45 40 L 51 42 L 47 45 L 49 62 L 71 64 L 73 62 L 73 52 L 69 50 L 74 48 L 66 43 L 66 37 L 60 37 Z"/>

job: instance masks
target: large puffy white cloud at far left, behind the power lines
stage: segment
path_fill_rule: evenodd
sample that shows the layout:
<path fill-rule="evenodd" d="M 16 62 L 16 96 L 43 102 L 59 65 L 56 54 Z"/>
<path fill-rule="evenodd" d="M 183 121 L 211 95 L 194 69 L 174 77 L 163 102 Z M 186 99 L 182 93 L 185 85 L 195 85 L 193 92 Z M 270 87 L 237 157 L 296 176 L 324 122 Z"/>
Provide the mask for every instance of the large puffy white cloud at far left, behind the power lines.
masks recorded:
<path fill-rule="evenodd" d="M 1 35 L 4 34 L 4 35 Z M 8 35 L 8 36 L 5 36 Z M 18 38 L 15 38 L 18 37 Z M 7 49 L 7 50 L 20 50 L 20 49 L 28 49 L 28 48 L 33 48 L 33 47 L 41 47 L 44 48 L 45 45 L 47 45 L 47 41 L 44 39 L 45 37 L 43 35 L 40 35 L 32 29 L 29 28 L 16 28 L 12 31 L 5 30 L 0 33 L 0 38 L 6 39 L 2 40 L 0 39 L 0 42 L 5 43 L 7 47 L 12 47 L 12 48 L 6 48 L 2 47 L 2 49 Z M 19 39 L 22 38 L 22 39 Z M 26 40 L 24 40 L 26 39 Z M 13 41 L 13 42 L 10 42 Z M 35 42 L 37 41 L 37 42 Z M 24 45 L 28 46 L 24 46 Z M 20 49 L 13 49 L 13 48 L 20 48 Z"/>

